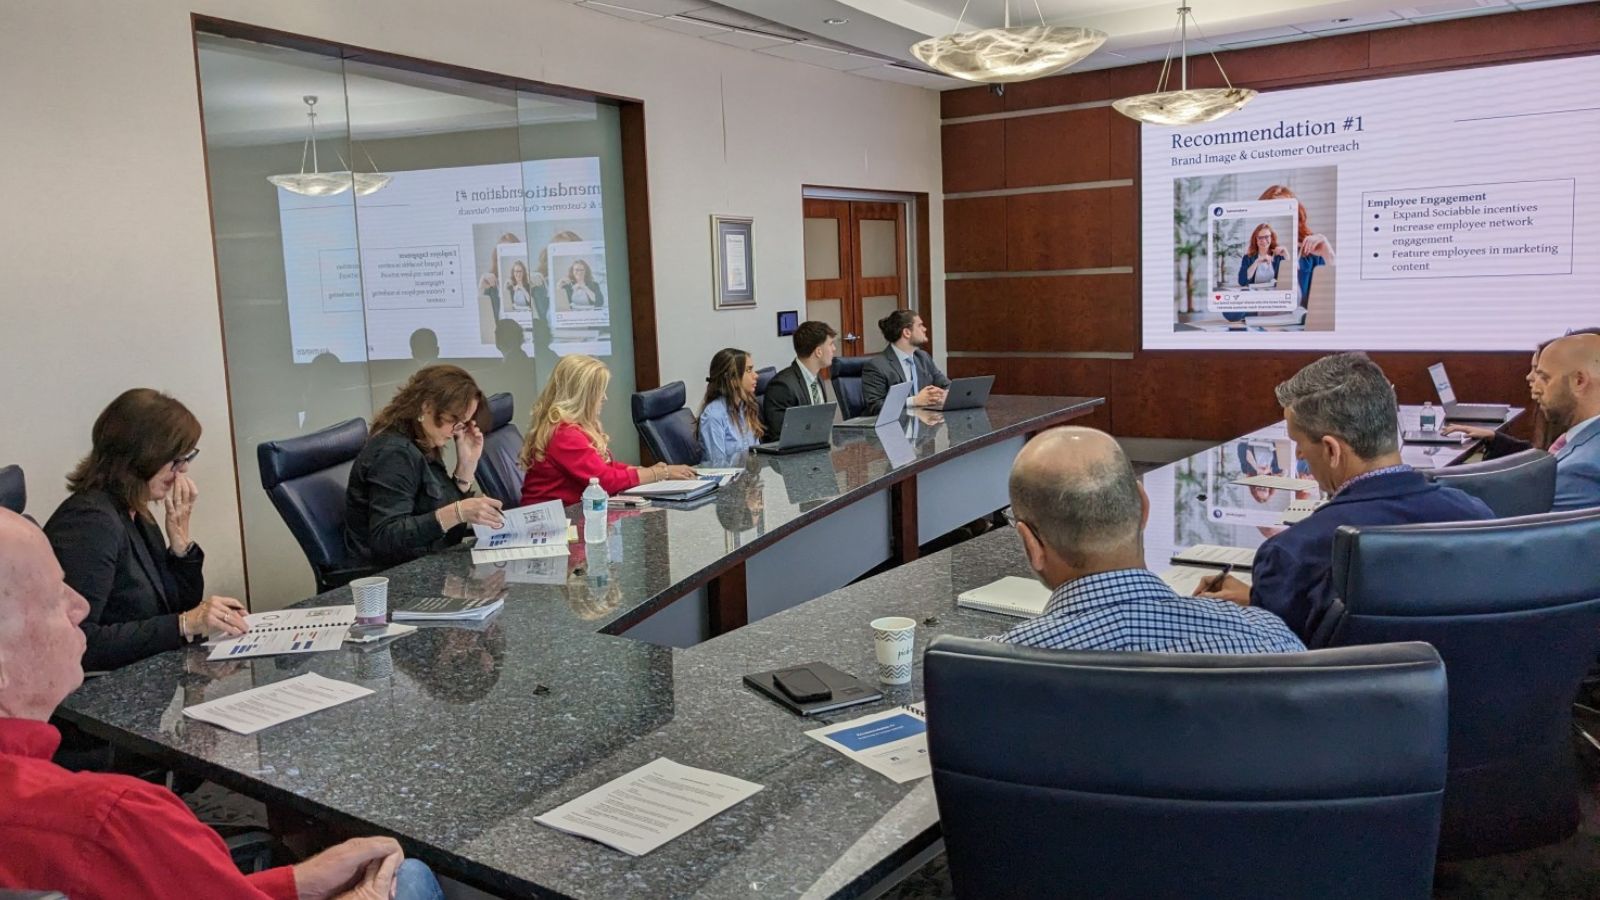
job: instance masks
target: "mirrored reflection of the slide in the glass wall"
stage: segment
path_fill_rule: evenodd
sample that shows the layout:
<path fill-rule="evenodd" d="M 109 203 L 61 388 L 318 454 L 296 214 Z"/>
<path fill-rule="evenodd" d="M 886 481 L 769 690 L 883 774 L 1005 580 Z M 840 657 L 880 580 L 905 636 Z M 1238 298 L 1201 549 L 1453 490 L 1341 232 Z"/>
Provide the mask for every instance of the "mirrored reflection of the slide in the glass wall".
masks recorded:
<path fill-rule="evenodd" d="M 597 157 L 278 189 L 294 362 L 611 354 Z"/>

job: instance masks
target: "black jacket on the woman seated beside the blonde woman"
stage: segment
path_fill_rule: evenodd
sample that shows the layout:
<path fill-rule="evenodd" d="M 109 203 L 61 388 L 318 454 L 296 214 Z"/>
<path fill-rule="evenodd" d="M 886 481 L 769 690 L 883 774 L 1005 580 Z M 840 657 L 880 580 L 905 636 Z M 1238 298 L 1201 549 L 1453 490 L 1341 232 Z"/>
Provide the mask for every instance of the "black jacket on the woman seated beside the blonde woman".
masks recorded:
<path fill-rule="evenodd" d="M 448 532 L 434 516 L 464 500 L 445 463 L 422 455 L 398 431 L 374 434 L 350 466 L 344 492 L 344 549 L 350 564 L 400 565 L 461 543 L 466 525 Z"/>

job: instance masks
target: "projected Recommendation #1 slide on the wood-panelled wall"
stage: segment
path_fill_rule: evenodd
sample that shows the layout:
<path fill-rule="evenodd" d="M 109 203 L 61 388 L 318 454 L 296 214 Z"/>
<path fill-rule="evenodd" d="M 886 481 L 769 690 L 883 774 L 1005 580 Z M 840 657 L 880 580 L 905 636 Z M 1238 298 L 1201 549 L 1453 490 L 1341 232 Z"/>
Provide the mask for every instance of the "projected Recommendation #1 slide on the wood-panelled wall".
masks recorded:
<path fill-rule="evenodd" d="M 1144 349 L 1526 351 L 1600 325 L 1600 56 L 1141 127 Z"/>

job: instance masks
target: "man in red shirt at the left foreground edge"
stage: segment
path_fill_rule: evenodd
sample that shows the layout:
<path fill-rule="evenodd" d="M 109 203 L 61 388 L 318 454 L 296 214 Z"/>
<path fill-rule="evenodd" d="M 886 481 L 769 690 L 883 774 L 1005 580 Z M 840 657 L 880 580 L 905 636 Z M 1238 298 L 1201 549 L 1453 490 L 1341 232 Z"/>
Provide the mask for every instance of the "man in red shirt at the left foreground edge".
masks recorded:
<path fill-rule="evenodd" d="M 216 831 L 166 788 L 51 762 L 61 733 L 50 714 L 83 682 L 86 613 L 45 533 L 0 509 L 0 887 L 74 900 L 443 897 L 390 838 L 240 874 Z"/>

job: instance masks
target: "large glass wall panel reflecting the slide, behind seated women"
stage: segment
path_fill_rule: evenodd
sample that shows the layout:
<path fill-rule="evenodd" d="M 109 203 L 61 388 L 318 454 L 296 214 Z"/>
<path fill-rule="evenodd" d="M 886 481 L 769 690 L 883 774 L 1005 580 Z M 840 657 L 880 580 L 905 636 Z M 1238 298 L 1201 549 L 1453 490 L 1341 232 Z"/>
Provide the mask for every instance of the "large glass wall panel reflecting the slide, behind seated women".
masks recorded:
<path fill-rule="evenodd" d="M 419 367 L 510 392 L 565 354 L 611 364 L 637 460 L 621 127 L 611 104 L 200 35 L 251 602 L 312 593 L 256 445 L 371 421 Z M 270 179 L 270 181 L 269 181 Z"/>

